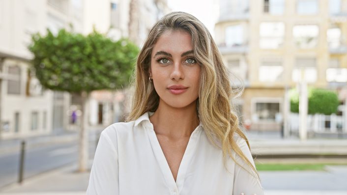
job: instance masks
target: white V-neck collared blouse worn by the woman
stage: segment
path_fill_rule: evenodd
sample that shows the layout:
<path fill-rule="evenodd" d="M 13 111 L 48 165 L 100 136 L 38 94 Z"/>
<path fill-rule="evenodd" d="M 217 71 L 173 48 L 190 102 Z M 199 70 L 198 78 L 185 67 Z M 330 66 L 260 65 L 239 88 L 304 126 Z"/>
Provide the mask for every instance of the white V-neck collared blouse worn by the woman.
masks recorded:
<path fill-rule="evenodd" d="M 176 181 L 145 112 L 135 121 L 114 123 L 100 136 L 87 195 L 263 195 L 259 180 L 207 139 L 202 124 L 190 136 Z M 254 165 L 246 141 L 235 135 Z M 236 161 L 247 165 L 233 153 Z"/>

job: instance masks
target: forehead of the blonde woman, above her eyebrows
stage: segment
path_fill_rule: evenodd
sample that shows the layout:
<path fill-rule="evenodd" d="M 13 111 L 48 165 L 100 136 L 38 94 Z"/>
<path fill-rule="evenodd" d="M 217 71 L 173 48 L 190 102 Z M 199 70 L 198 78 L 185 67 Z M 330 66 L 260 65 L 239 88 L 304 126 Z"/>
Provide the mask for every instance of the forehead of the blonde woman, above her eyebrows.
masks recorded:
<path fill-rule="evenodd" d="M 152 56 L 158 51 L 165 51 L 172 55 L 181 55 L 193 50 L 192 37 L 184 30 L 166 30 L 154 44 Z"/>

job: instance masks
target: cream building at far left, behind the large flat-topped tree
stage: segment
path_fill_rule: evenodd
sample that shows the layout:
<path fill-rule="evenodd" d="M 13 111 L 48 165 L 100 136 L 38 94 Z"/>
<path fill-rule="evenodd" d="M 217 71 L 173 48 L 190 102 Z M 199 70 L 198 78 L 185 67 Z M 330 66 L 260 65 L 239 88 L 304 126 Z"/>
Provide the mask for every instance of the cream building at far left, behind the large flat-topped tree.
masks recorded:
<path fill-rule="evenodd" d="M 42 90 L 30 70 L 31 34 L 74 26 L 81 0 L 0 0 L 0 139 L 58 134 L 67 125 L 69 94 Z"/>

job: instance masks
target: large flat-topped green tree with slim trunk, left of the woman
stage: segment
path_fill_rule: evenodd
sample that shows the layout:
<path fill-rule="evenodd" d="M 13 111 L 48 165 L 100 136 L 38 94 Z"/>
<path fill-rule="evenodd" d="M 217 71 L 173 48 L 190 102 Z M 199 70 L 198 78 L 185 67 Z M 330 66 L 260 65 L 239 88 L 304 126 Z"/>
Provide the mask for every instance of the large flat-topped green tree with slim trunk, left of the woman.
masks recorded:
<path fill-rule="evenodd" d="M 87 167 L 86 103 L 93 90 L 116 90 L 129 84 L 139 49 L 127 39 L 116 42 L 95 30 L 87 36 L 59 30 L 32 35 L 29 50 L 36 77 L 46 89 L 81 96 L 80 171 Z"/>

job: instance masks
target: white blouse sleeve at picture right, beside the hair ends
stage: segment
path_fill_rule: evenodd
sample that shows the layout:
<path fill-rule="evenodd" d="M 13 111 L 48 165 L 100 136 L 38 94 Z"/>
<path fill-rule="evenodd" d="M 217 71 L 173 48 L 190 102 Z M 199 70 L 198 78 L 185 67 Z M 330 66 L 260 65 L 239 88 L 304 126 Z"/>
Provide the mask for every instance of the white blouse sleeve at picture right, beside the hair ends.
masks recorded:
<path fill-rule="evenodd" d="M 251 151 L 248 148 L 246 141 L 237 136 L 236 139 L 237 145 L 240 147 L 242 153 L 246 156 L 246 158 L 252 163 L 255 167 Z M 233 184 L 233 195 L 240 195 L 244 193 L 245 195 L 264 195 L 263 188 L 260 184 L 260 180 L 253 176 L 253 171 L 251 168 L 241 159 L 240 156 L 236 154 L 235 160 L 239 165 L 235 164 L 235 172 L 234 172 L 234 184 Z M 250 172 L 250 173 L 249 173 Z M 251 174 L 252 173 L 252 174 Z"/>

